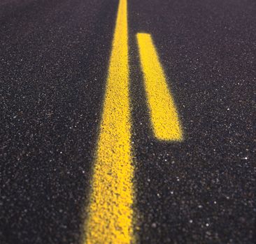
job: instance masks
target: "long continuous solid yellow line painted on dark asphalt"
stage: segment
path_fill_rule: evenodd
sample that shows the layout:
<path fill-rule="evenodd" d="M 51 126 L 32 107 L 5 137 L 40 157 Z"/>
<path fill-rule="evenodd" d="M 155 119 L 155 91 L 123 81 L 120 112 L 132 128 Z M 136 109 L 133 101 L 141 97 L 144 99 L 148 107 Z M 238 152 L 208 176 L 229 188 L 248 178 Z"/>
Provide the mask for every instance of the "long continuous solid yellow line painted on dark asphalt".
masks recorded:
<path fill-rule="evenodd" d="M 133 173 L 127 0 L 120 0 L 85 224 L 86 243 L 133 241 Z"/>

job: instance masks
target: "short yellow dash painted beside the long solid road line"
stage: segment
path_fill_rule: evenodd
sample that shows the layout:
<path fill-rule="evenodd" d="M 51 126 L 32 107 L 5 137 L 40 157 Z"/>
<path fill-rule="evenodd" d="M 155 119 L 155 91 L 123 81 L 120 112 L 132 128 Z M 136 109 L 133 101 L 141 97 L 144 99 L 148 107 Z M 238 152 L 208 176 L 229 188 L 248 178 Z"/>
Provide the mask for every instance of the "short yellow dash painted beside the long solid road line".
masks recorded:
<path fill-rule="evenodd" d="M 138 33 L 137 40 L 155 137 L 159 140 L 180 141 L 183 135 L 178 113 L 152 38 L 148 33 Z"/>

